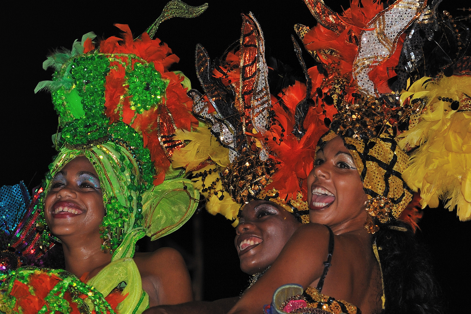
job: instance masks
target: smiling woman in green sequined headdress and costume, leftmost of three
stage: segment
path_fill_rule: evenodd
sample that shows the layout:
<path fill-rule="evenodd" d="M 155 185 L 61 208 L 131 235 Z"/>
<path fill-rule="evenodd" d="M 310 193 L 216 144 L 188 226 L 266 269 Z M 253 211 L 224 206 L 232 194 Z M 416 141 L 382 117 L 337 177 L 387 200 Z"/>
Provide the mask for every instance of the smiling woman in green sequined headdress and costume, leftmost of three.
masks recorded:
<path fill-rule="evenodd" d="M 171 4 L 184 10 L 166 6 L 164 18 L 197 16 L 206 8 Z M 189 81 L 168 71 L 178 57 L 152 39 L 161 20 L 136 40 L 122 24 L 116 26 L 123 39 L 96 45 L 96 35 L 88 33 L 72 51 L 44 62 L 56 72 L 36 91 L 52 93 L 59 153 L 38 191 L 34 249 L 62 243 L 66 272 L 26 267 L 3 275 L 2 311 L 134 314 L 193 299 L 176 250 L 135 255 L 138 239 L 177 230 L 199 200 L 185 172 L 170 166 L 173 151 L 185 145 L 172 134 L 196 120 L 186 95 Z"/>

